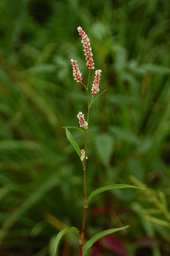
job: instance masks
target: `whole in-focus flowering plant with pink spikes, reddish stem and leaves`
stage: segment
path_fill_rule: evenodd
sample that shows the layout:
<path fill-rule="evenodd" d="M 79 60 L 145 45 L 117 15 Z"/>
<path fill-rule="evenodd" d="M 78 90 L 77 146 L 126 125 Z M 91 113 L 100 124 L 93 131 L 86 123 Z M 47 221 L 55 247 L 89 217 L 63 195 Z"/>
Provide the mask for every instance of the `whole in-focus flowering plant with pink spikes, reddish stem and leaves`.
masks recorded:
<path fill-rule="evenodd" d="M 92 58 L 92 56 L 93 56 L 92 48 L 90 46 L 90 40 L 89 40 L 86 32 L 84 32 L 84 30 L 82 30 L 81 27 L 78 27 L 77 30 L 79 32 L 79 35 L 82 37 L 82 44 L 84 46 L 84 52 L 85 52 L 84 55 L 86 56 L 86 66 L 87 66 L 87 68 L 89 70 L 87 85 L 84 85 L 84 83 L 82 82 L 82 73 L 80 73 L 77 61 L 71 59 L 71 63 L 72 63 L 72 67 L 73 67 L 74 80 L 76 80 L 76 82 L 81 83 L 84 86 L 84 88 L 86 89 L 86 92 L 87 92 L 88 114 L 87 114 L 87 121 L 85 120 L 84 114 L 81 111 L 77 114 L 80 127 L 77 127 L 77 126 L 73 126 L 73 127 L 65 126 L 64 128 L 66 129 L 66 136 L 67 136 L 68 140 L 70 141 L 72 146 L 74 146 L 76 152 L 78 153 L 78 155 L 80 157 L 80 160 L 82 161 L 82 165 L 83 165 L 83 177 L 84 177 L 84 214 L 83 214 L 81 232 L 76 227 L 62 229 L 58 233 L 58 235 L 56 236 L 55 243 L 54 243 L 54 248 L 55 248 L 55 253 L 56 253 L 56 250 L 57 250 L 60 238 L 64 234 L 66 234 L 67 232 L 75 232 L 79 236 L 79 244 L 80 244 L 80 253 L 79 253 L 79 255 L 80 256 L 85 256 L 87 250 L 96 241 L 98 241 L 100 238 L 102 238 L 104 236 L 107 236 L 108 234 L 112 234 L 112 233 L 114 233 L 116 231 L 123 230 L 123 229 L 128 227 L 128 226 L 123 226 L 123 227 L 120 227 L 120 228 L 111 228 L 111 229 L 108 229 L 108 230 L 104 230 L 104 231 L 96 234 L 92 238 L 90 238 L 90 240 L 88 240 L 84 244 L 84 230 L 85 230 L 85 222 L 86 222 L 86 211 L 87 211 L 87 208 L 88 208 L 89 201 L 94 196 L 96 196 L 97 194 L 99 194 L 101 192 L 104 192 L 106 190 L 116 189 L 116 188 L 138 188 L 138 187 L 132 186 L 132 185 L 127 185 L 127 184 L 114 184 L 114 185 L 104 186 L 104 187 L 98 188 L 98 189 L 94 190 L 89 196 L 87 196 L 87 193 L 86 193 L 86 160 L 88 159 L 88 157 L 86 155 L 86 152 L 87 152 L 88 122 L 89 122 L 90 108 L 91 108 L 92 104 L 95 102 L 95 100 L 103 92 L 105 92 L 106 90 L 104 90 L 102 93 L 100 93 L 98 96 L 96 96 L 96 94 L 100 90 L 99 89 L 100 76 L 101 76 L 100 73 L 102 72 L 102 70 L 96 70 L 95 71 L 95 76 L 94 76 L 94 81 L 93 81 L 92 88 L 91 88 L 91 95 L 92 95 L 92 97 L 91 97 L 91 100 L 90 100 L 90 97 L 89 97 L 90 74 L 91 74 L 91 71 L 94 69 L 94 61 L 93 61 L 93 58 Z M 72 137 L 72 135 L 68 131 L 68 128 L 74 128 L 74 129 L 77 129 L 80 132 L 82 132 L 82 134 L 84 135 L 84 149 L 80 150 L 80 148 L 76 144 L 74 138 Z"/>

